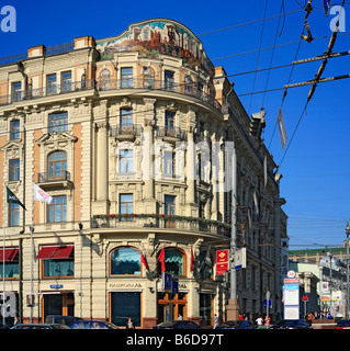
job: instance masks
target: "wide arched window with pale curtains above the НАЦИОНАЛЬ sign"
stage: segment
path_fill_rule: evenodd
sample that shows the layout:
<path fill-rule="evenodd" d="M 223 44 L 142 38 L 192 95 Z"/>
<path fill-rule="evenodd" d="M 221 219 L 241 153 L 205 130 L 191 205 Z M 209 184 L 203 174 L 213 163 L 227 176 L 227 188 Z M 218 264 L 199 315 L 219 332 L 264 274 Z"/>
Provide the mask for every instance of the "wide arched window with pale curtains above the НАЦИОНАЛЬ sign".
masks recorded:
<path fill-rule="evenodd" d="M 110 274 L 140 275 L 140 252 L 131 247 L 115 249 L 111 252 Z"/>

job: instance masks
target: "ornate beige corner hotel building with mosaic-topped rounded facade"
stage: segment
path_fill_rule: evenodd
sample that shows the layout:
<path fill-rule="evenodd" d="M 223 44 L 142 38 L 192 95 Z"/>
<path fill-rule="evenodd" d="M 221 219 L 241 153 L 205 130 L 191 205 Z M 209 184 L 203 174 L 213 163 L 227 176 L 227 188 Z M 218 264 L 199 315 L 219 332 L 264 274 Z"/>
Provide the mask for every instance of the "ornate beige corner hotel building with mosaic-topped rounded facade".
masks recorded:
<path fill-rule="evenodd" d="M 2 61 L 1 278 L 21 319 L 225 318 L 229 273 L 216 274 L 215 252 L 230 242 L 230 147 L 236 244 L 247 250 L 239 310 L 262 313 L 269 287 L 280 314 L 284 200 L 263 127 L 263 111 L 248 116 L 224 68 L 172 20 Z M 33 182 L 50 204 L 33 200 Z M 4 185 L 26 211 L 7 203 Z M 178 276 L 171 295 L 162 249 Z"/>

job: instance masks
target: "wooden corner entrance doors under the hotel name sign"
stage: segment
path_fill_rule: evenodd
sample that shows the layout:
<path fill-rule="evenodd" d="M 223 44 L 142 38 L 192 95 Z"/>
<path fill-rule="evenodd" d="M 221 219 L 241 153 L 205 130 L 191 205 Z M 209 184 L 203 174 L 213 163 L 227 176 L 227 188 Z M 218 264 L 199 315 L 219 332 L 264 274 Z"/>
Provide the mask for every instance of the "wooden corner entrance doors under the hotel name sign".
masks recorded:
<path fill-rule="evenodd" d="M 187 296 L 185 293 L 158 293 L 158 322 L 177 320 L 180 315 L 183 319 L 187 319 Z"/>

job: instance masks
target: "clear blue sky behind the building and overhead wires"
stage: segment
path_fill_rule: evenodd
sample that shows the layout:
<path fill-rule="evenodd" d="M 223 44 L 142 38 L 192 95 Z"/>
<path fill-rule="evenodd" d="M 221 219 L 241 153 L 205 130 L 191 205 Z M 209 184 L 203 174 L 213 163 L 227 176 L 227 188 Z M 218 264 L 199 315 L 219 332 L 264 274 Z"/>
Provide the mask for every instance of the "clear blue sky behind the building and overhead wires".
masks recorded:
<path fill-rule="evenodd" d="M 275 36 L 279 19 L 257 21 L 280 14 L 282 0 L 251 1 L 24 1 L 7 0 L 3 5 L 16 10 L 16 32 L 0 32 L 0 57 L 25 53 L 31 46 L 69 43 L 81 35 L 104 38 L 118 35 L 131 23 L 151 19 L 168 18 L 181 22 L 203 42 L 208 57 L 216 66 L 224 66 L 228 76 L 270 66 L 287 65 L 297 52 L 305 12 L 305 0 L 285 0 L 279 35 Z M 332 5 L 340 0 L 332 0 Z M 314 57 L 326 52 L 331 31 L 326 19 L 321 0 L 313 1 L 308 18 L 314 42 L 303 42 L 297 59 Z M 0 15 L 0 21 L 3 19 Z M 350 49 L 350 4 L 345 7 L 346 32 L 340 33 L 334 52 Z M 233 27 L 234 26 L 234 27 Z M 261 36 L 261 31 L 263 32 Z M 349 26 L 349 27 L 348 27 Z M 230 27 L 230 29 L 228 29 Z M 208 32 L 213 32 L 210 33 Z M 278 45 L 272 49 L 244 54 Z M 313 79 L 321 61 L 297 65 L 293 69 L 291 83 Z M 350 56 L 328 60 L 321 77 L 349 73 Z M 256 75 L 229 77 L 235 82 L 236 93 L 281 88 L 289 81 L 291 67 L 273 69 Z M 267 84 L 268 81 L 268 84 Z M 350 79 L 317 86 L 314 98 L 307 106 L 294 139 L 280 168 L 283 174 L 281 196 L 285 197 L 284 211 L 289 216 L 291 249 L 318 246 L 341 246 L 346 239 L 346 220 L 350 220 Z M 283 104 L 283 116 L 289 139 L 302 114 L 311 86 L 290 89 Z M 282 102 L 283 90 L 241 97 L 250 113 L 263 106 L 267 127 L 263 133 L 267 146 L 280 165 L 283 150 L 278 132 L 273 134 L 275 118 Z M 251 98 L 252 97 L 252 98 Z M 273 135 L 273 137 L 272 137 Z"/>

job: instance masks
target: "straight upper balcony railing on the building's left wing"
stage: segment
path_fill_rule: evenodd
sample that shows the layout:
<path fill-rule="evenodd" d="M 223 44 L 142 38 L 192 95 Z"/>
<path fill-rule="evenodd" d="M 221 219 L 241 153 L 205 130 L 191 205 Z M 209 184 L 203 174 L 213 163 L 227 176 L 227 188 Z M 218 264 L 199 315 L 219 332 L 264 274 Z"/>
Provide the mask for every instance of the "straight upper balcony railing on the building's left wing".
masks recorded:
<path fill-rule="evenodd" d="M 13 102 L 20 102 L 24 100 L 39 99 L 45 97 L 54 97 L 59 94 L 66 94 L 70 92 L 83 91 L 94 89 L 95 81 L 93 79 L 67 82 L 60 86 L 50 86 L 38 89 L 29 89 L 23 91 L 15 91 L 11 95 L 0 97 L 0 105 L 8 105 Z"/>

